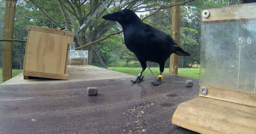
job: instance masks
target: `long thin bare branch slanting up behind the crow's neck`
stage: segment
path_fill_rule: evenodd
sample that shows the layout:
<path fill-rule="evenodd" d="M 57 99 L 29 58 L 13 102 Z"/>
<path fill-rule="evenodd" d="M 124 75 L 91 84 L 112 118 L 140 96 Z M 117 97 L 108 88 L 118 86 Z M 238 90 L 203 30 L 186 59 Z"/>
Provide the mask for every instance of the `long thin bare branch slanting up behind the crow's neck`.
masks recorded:
<path fill-rule="evenodd" d="M 174 6 L 177 6 L 177 5 L 185 5 L 185 4 L 187 4 L 187 3 L 189 3 L 189 2 L 193 2 L 193 1 L 195 1 L 195 0 L 187 0 L 187 1 L 184 1 L 184 2 L 177 2 L 177 3 L 171 4 L 171 5 L 162 5 L 162 6 L 159 7 L 155 12 L 153 12 L 153 13 L 147 15 L 146 17 L 142 18 L 141 20 L 144 21 L 146 18 L 148 18 L 148 17 L 150 17 L 150 16 L 156 14 L 156 13 L 159 12 L 161 9 L 167 9 L 167 8 L 174 7 Z M 98 39 L 98 40 L 96 40 L 96 41 L 94 41 L 94 42 L 87 43 L 87 44 L 85 44 L 84 46 L 80 46 L 80 47 L 75 48 L 74 50 L 81 50 L 81 49 L 83 49 L 83 48 L 85 48 L 85 47 L 87 47 L 87 46 L 91 46 L 91 45 L 93 45 L 93 44 L 99 43 L 99 42 L 101 42 L 101 41 L 107 39 L 108 37 L 110 37 L 110 36 L 112 36 L 112 35 L 117 35 L 117 34 L 119 34 L 119 33 L 121 33 L 121 32 L 123 32 L 123 30 L 118 31 L 118 32 L 111 33 L 111 34 L 105 36 L 105 37 L 102 38 L 102 39 Z"/>

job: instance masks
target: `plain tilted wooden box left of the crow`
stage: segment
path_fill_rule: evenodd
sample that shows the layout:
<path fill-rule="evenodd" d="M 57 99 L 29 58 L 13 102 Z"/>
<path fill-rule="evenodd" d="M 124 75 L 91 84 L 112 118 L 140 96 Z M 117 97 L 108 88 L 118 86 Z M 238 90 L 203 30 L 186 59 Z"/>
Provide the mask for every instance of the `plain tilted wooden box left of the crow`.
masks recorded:
<path fill-rule="evenodd" d="M 69 44 L 74 32 L 27 26 L 28 40 L 23 65 L 24 79 L 28 76 L 68 80 L 66 74 Z"/>

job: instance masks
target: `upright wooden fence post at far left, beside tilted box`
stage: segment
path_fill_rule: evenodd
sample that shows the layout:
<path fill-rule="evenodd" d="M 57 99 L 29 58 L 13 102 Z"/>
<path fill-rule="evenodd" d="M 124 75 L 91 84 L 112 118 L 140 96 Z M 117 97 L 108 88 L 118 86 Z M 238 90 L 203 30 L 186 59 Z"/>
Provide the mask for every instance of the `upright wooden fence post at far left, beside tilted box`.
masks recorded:
<path fill-rule="evenodd" d="M 12 39 L 16 0 L 6 0 L 3 38 Z M 2 80 L 12 78 L 12 42 L 2 42 Z"/>

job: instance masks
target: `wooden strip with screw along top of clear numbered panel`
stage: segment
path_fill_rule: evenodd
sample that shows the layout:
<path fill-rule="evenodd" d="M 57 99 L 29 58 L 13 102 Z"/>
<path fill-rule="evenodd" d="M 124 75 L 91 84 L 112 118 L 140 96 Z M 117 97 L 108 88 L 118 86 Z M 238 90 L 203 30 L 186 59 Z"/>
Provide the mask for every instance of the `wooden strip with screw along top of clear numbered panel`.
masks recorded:
<path fill-rule="evenodd" d="M 244 21 L 251 18 L 256 18 L 256 10 L 252 10 L 256 7 L 256 3 L 247 3 L 239 5 L 230 5 L 223 7 L 216 7 L 207 9 L 210 14 L 207 18 L 202 16 L 201 10 L 201 21 L 208 23 L 216 22 L 233 22 L 233 21 Z"/>

